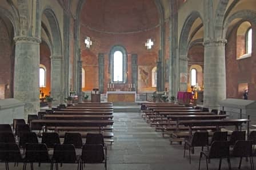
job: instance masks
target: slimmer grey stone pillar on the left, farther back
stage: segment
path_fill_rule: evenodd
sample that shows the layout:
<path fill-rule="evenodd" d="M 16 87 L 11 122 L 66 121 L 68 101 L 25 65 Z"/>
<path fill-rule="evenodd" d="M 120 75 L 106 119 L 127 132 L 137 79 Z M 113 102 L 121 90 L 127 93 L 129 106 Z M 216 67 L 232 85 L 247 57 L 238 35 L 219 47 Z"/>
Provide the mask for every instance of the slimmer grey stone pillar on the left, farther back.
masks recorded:
<path fill-rule="evenodd" d="M 53 104 L 58 105 L 62 100 L 62 56 L 51 55 L 51 96 L 54 99 Z"/>

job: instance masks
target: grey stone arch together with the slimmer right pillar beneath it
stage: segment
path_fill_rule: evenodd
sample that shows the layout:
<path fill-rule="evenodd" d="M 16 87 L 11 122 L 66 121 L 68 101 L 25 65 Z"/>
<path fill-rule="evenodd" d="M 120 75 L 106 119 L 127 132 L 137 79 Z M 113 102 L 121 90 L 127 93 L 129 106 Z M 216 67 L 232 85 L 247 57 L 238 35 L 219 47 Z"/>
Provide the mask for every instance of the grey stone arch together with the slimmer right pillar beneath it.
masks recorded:
<path fill-rule="evenodd" d="M 193 11 L 186 19 L 179 38 L 179 90 L 187 90 L 187 50 L 189 47 L 189 33 L 197 18 L 203 19 L 198 11 Z M 182 81 L 181 81 L 182 80 Z M 186 80 L 185 82 L 183 80 Z"/>

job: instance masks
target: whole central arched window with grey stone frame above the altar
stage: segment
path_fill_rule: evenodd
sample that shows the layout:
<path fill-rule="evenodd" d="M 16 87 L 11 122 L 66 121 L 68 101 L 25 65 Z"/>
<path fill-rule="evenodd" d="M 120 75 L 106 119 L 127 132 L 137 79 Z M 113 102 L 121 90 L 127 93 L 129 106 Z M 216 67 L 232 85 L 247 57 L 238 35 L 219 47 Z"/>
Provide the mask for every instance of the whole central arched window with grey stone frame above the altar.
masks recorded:
<path fill-rule="evenodd" d="M 114 46 L 109 54 L 110 83 L 127 82 L 127 52 L 123 46 Z"/>

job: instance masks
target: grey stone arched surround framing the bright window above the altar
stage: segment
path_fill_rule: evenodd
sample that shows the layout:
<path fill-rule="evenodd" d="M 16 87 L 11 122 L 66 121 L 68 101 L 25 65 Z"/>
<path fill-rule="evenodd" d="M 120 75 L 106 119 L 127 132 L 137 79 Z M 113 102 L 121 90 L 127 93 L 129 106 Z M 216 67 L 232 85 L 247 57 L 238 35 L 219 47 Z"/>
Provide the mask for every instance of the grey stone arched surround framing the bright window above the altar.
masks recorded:
<path fill-rule="evenodd" d="M 111 80 L 111 83 L 113 83 L 113 62 L 114 62 L 114 52 L 115 51 L 121 51 L 123 54 L 123 82 L 127 82 L 127 70 L 128 70 L 128 60 L 127 60 L 127 51 L 126 48 L 121 45 L 115 45 L 111 47 L 111 50 L 109 52 L 109 78 Z"/>

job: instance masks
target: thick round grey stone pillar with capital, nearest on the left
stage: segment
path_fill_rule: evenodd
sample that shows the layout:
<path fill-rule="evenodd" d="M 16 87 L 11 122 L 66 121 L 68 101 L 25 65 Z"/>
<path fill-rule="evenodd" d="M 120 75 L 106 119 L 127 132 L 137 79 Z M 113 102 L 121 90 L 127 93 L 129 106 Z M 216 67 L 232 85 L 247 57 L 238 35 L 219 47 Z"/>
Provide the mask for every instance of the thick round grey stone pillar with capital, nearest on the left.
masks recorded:
<path fill-rule="evenodd" d="M 35 37 L 15 37 L 14 98 L 25 103 L 24 118 L 39 107 L 39 43 Z"/>

